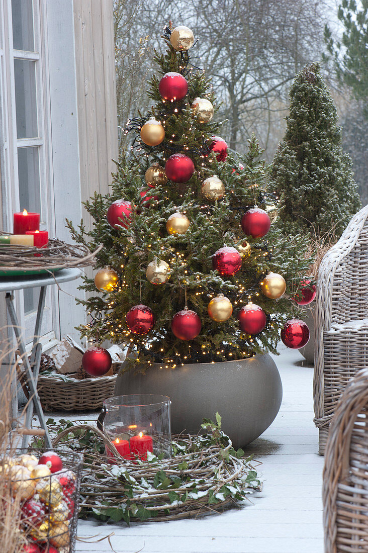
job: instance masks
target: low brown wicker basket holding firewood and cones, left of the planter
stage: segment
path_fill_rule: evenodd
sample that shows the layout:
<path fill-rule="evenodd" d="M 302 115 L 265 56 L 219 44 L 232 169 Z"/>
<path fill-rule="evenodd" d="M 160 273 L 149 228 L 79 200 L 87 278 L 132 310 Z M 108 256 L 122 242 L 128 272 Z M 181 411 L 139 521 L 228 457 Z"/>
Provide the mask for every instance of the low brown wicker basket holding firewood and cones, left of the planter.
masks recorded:
<path fill-rule="evenodd" d="M 44 411 L 90 411 L 101 409 L 102 401 L 114 395 L 117 373 L 121 362 L 112 363 L 112 375 L 98 378 L 69 378 L 68 382 L 57 374 L 40 373 L 37 391 Z M 24 389 L 24 371 L 20 373 Z M 23 382 L 22 382 L 23 380 Z"/>

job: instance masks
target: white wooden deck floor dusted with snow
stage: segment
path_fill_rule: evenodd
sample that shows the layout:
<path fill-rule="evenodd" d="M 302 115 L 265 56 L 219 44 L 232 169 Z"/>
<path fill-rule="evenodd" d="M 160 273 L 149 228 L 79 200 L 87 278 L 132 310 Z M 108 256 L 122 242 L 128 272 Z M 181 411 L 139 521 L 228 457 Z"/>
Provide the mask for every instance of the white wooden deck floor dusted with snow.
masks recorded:
<path fill-rule="evenodd" d="M 239 510 L 197 520 L 104 525 L 80 521 L 80 538 L 110 533 L 117 553 L 323 553 L 322 468 L 313 424 L 313 367 L 298 351 L 275 357 L 283 383 L 277 418 L 247 453 L 263 465 L 263 490 Z M 51 415 L 52 416 L 52 415 Z M 64 415 L 65 416 L 65 415 Z M 65 416 L 65 418 L 72 418 Z M 87 538 L 88 539 L 88 538 Z M 111 552 L 107 540 L 77 542 L 78 553 Z"/>

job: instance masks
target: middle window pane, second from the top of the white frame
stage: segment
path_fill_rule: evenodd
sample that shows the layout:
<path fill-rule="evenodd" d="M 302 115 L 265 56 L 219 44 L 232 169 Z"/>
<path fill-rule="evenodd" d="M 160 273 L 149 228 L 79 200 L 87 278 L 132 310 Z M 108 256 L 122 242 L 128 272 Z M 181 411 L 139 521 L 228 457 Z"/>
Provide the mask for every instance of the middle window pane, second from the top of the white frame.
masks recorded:
<path fill-rule="evenodd" d="M 38 136 L 35 61 L 14 60 L 17 137 Z"/>

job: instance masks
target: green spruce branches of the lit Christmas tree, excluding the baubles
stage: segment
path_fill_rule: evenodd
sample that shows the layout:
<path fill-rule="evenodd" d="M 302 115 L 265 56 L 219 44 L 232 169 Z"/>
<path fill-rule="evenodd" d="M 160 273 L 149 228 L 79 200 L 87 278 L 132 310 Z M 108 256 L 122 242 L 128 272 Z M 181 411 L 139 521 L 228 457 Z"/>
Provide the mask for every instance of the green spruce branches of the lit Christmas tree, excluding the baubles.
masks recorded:
<path fill-rule="evenodd" d="M 153 105 L 127 127 L 134 135 L 133 147 L 118 160 L 109 193 L 95 193 L 85 202 L 94 220 L 93 228 L 86 231 L 81 222 L 76 229 L 68 222 L 76 241 L 92 249 L 103 244 L 96 256 L 96 269 L 113 269 L 117 280 L 96 293 L 94 280 L 85 277 L 81 288 L 88 298 L 82 303 L 91 320 L 80 331 L 95 343 L 128 343 L 136 353 L 132 363 L 142 370 L 153 362 L 175 367 L 276 352 L 279 331 L 297 312 L 298 306 L 289 296 L 298 289 L 310 263 L 305 258 L 306 240 L 300 235 L 284 236 L 276 225 L 271 225 L 261 238 L 242 232 L 243 213 L 255 205 L 274 211 L 277 203 L 276 196 L 267 189 L 268 168 L 260 159 L 262 149 L 253 136 L 245 155 L 227 150 L 226 157 L 225 150 L 222 155 L 212 150 L 221 125 L 203 122 L 203 114 L 196 113 L 193 104 L 195 98 L 202 98 L 212 103 L 216 113 L 214 91 L 204 72 L 191 65 L 188 51 L 170 44 L 171 30 L 167 28 L 165 34 L 167 53 L 156 55 L 158 74 L 149 83 Z M 188 81 L 188 93 L 182 100 L 164 100 L 160 94 L 160 80 L 168 72 L 179 73 Z M 162 123 L 165 134 L 155 146 L 139 139 L 140 129 L 151 116 Z M 154 163 L 165 166 L 176 153 L 193 161 L 193 176 L 182 183 L 164 178 L 154 187 L 147 184 L 146 171 Z M 214 175 L 224 183 L 225 195 L 208 199 L 201 187 Z M 122 199 L 131 202 L 131 207 L 127 217 L 122 216 L 120 225 L 113 228 L 106 213 L 112 202 Z M 188 217 L 189 227 L 181 234 L 170 234 L 168 218 L 177 212 Z M 224 244 L 243 255 L 241 269 L 234 275 L 221 275 L 212 268 L 212 256 Z M 164 283 L 153 284 L 146 277 L 148 265 L 152 268 L 152 264 L 162 261 L 169 265 L 169 274 Z M 286 293 L 280 299 L 271 299 L 261 291 L 261 283 L 270 272 L 286 280 Z M 215 321 L 208 313 L 209 302 L 219 293 L 234 309 L 224 322 Z M 250 303 L 266 314 L 266 326 L 256 334 L 241 331 L 237 319 L 242 306 Z M 152 330 L 139 335 L 128 325 L 129 310 L 142 304 L 153 311 L 156 323 Z M 198 336 L 191 340 L 182 340 L 172 331 L 173 317 L 185 305 L 201 321 Z"/>

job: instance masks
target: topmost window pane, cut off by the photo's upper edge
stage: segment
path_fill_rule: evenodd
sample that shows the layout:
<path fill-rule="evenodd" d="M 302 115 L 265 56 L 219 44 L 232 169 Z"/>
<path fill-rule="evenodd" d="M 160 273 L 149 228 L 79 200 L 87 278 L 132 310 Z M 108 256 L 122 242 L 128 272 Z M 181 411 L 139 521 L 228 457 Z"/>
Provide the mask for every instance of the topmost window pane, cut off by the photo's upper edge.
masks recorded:
<path fill-rule="evenodd" d="M 34 51 L 32 0 L 12 0 L 13 48 Z"/>

